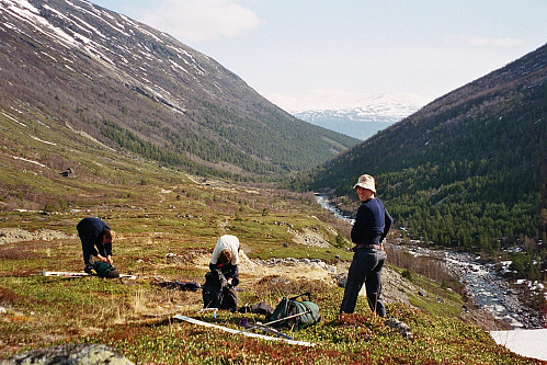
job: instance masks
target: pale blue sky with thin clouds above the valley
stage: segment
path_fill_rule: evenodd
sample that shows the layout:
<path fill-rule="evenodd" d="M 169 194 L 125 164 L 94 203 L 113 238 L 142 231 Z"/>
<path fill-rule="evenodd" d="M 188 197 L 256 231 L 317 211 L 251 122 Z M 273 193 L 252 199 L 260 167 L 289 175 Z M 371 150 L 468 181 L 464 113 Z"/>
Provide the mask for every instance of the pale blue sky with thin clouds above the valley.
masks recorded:
<path fill-rule="evenodd" d="M 545 0 L 91 2 L 169 33 L 286 110 L 341 94 L 432 101 L 547 43 Z"/>

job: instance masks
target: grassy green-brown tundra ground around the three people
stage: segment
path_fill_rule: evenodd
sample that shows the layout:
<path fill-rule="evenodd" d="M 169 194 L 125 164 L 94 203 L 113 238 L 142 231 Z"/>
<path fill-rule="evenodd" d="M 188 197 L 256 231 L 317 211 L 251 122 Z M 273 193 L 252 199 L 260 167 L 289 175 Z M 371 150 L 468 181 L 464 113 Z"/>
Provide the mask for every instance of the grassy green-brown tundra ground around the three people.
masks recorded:
<path fill-rule="evenodd" d="M 388 317 L 410 326 L 413 335 L 406 339 L 369 315 L 364 298 L 355 315 L 339 317 L 342 289 L 324 271 L 263 267 L 253 261 L 292 256 L 341 264 L 351 259 L 344 248 L 334 247 L 337 231 L 346 227 L 330 220 L 309 196 L 157 175 L 133 187 L 90 189 L 89 196 L 79 195 L 70 204 L 52 203 L 48 209 L 47 215 L 4 210 L 0 216 L 0 229 L 58 232 L 57 238 L 48 236 L 50 240 L 0 237 L 4 240 L 0 244 L 2 357 L 50 344 L 92 342 L 110 345 L 137 364 L 539 363 L 497 345 L 465 320 L 459 295 L 418 274 L 412 282 L 426 295 L 407 293 L 412 306 L 394 301 L 387 306 Z M 136 281 L 39 275 L 82 270 L 75 227 L 88 215 L 103 218 L 118 232 L 115 264 L 123 273 L 137 274 Z M 311 292 L 322 320 L 290 334 L 315 346 L 226 334 L 172 318 L 186 315 L 231 328 L 239 328 L 242 318 L 264 320 L 229 311 L 216 318 L 198 315 L 200 292 L 156 285 L 158 278 L 203 283 L 207 259 L 223 233 L 238 236 L 251 259 L 241 267 L 240 305 L 266 300 L 275 306 L 282 296 Z M 309 239 L 301 240 L 303 233 Z M 390 272 L 395 276 L 386 281 L 386 290 L 404 282 L 400 270 Z"/>

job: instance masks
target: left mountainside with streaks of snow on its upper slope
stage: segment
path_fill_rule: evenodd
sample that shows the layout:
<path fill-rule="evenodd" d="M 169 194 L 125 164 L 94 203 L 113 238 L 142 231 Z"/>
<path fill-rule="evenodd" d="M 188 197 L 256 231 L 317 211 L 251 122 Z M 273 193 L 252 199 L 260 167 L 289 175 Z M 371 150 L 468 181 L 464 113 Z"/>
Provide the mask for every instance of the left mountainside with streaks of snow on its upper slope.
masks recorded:
<path fill-rule="evenodd" d="M 357 141 L 296 119 L 171 36 L 81 0 L 0 2 L 0 110 L 58 138 L 86 133 L 239 179 L 278 179 Z"/>

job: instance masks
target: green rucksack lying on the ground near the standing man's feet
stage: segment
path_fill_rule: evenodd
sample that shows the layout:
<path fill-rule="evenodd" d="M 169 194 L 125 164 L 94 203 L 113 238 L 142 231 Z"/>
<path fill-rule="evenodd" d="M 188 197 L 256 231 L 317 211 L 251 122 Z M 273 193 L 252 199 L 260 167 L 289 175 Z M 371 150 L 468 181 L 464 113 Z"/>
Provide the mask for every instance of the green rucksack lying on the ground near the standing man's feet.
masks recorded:
<path fill-rule="evenodd" d="M 303 296 L 307 296 L 308 300 L 297 300 Z M 283 318 L 287 319 L 274 322 L 271 326 L 298 331 L 318 323 L 321 320 L 321 315 L 319 313 L 319 306 L 311 301 L 311 295 L 308 292 L 296 297 L 284 297 L 275 307 L 274 312 L 267 318 L 267 321 L 272 322 Z"/>

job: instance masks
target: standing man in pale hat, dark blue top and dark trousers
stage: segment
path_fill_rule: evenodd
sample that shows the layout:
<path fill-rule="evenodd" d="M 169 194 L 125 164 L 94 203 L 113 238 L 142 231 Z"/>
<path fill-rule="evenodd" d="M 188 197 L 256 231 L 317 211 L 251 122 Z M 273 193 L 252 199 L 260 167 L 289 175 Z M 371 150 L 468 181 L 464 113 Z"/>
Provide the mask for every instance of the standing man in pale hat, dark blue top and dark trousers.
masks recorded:
<path fill-rule="evenodd" d="M 352 228 L 352 264 L 347 273 L 344 298 L 340 312 L 353 313 L 358 292 L 365 284 L 366 299 L 373 312 L 386 317 L 381 299 L 381 267 L 386 262 L 384 239 L 391 228 L 392 219 L 379 198 L 375 197 L 374 178 L 368 174 L 358 176 L 353 186 L 357 191 L 361 206 Z"/>

